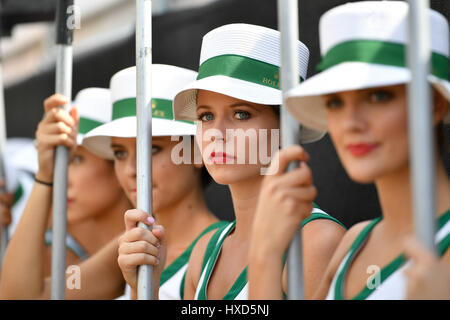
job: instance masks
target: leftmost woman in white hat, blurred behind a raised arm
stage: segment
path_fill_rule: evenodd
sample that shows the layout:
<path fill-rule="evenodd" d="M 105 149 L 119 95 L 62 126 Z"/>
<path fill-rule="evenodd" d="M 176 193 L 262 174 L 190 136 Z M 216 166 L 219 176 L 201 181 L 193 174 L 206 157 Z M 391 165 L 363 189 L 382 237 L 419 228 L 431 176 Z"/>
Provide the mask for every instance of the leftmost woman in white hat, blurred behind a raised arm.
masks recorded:
<path fill-rule="evenodd" d="M 90 130 L 111 119 L 111 94 L 109 89 L 87 88 L 81 90 L 75 104 L 80 112 L 80 123 L 77 134 L 77 148 L 69 163 L 67 191 L 67 265 L 78 264 L 93 255 L 113 238 L 123 232 L 122 217 L 114 208 L 115 200 L 123 204 L 121 208 L 131 207 L 131 203 L 123 194 L 112 170 L 112 161 L 105 161 L 86 150 L 82 146 L 83 138 Z M 97 111 L 97 112 L 95 112 Z M 112 171 L 112 173 L 111 173 Z M 109 183 L 110 188 L 103 189 L 102 201 L 92 196 L 93 189 L 99 186 L 95 181 Z M 111 190 L 114 190 L 111 192 Z M 119 195 L 119 196 L 118 196 Z M 116 198 L 118 196 L 118 198 Z M 106 207 L 105 207 L 106 206 Z M 108 208 L 108 206 L 112 206 Z M 51 218 L 49 229 L 45 233 L 46 270 L 50 275 L 52 232 Z"/>

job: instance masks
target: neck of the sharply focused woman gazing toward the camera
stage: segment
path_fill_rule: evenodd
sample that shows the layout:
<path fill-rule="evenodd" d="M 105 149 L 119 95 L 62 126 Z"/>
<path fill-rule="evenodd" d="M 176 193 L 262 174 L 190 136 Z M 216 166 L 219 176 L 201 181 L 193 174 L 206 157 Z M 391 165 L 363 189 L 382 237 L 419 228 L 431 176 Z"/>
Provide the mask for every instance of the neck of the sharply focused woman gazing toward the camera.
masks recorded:
<path fill-rule="evenodd" d="M 250 230 L 258 204 L 259 191 L 264 176 L 230 185 L 233 208 L 236 216 L 236 227 L 233 237 L 245 242 L 250 239 Z"/>

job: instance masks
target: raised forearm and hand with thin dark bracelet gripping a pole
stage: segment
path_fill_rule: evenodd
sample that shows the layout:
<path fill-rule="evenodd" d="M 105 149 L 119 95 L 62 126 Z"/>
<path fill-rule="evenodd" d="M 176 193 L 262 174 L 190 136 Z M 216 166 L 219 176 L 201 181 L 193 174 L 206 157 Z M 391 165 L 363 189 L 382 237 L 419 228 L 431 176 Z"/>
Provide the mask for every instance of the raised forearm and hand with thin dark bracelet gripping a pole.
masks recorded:
<path fill-rule="evenodd" d="M 53 95 L 44 102 L 45 116 L 36 131 L 39 169 L 36 179 L 53 181 L 54 150 L 58 145 L 76 146 L 78 114 L 57 108 L 67 102 Z M 6 299 L 36 299 L 44 290 L 44 235 L 51 210 L 52 187 L 35 182 L 20 222 L 5 255 L 0 296 Z"/>

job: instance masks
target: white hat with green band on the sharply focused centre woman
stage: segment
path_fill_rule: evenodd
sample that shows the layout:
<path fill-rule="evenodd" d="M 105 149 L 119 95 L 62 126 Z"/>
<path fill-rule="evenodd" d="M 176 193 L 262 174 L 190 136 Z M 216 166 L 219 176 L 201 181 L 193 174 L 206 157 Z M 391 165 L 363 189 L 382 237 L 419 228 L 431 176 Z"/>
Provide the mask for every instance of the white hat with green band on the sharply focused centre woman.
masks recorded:
<path fill-rule="evenodd" d="M 306 78 L 308 48 L 298 41 L 298 75 Z M 174 99 L 175 119 L 196 121 L 197 92 L 208 90 L 253 103 L 281 105 L 280 33 L 249 24 L 229 24 L 203 37 L 200 67 L 193 81 Z M 312 142 L 322 132 L 304 130 L 302 142 Z"/>

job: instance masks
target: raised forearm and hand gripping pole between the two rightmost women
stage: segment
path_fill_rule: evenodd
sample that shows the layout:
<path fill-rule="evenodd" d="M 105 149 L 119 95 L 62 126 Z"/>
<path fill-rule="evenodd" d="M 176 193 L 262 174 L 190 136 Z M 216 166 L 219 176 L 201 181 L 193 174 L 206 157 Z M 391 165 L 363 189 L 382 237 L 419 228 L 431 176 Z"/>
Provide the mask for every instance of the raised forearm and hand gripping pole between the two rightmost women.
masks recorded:
<path fill-rule="evenodd" d="M 317 191 L 300 146 L 280 150 L 262 183 L 252 226 L 249 298 L 282 299 L 282 257 L 303 219 L 311 214 Z M 285 173 L 291 161 L 301 161 Z"/>

